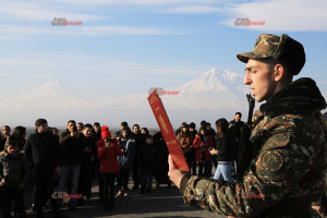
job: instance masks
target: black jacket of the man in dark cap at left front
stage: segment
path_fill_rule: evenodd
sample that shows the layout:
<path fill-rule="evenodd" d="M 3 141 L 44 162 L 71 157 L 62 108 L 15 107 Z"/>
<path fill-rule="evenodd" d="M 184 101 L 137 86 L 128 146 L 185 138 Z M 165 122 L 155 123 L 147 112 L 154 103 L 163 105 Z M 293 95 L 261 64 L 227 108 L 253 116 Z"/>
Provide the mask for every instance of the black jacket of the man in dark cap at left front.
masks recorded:
<path fill-rule="evenodd" d="M 60 166 L 61 146 L 51 133 L 33 133 L 28 136 L 24 153 L 35 173 L 52 174 Z"/>

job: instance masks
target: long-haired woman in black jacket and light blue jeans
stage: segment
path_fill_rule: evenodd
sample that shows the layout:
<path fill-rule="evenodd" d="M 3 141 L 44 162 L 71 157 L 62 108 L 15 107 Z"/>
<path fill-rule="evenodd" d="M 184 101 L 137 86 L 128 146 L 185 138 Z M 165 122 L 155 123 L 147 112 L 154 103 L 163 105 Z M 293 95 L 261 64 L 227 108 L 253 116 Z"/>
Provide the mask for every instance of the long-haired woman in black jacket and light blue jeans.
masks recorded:
<path fill-rule="evenodd" d="M 232 172 L 234 164 L 233 138 L 228 130 L 228 121 L 221 118 L 216 121 L 217 135 L 215 138 L 216 148 L 210 150 L 211 155 L 217 155 L 218 166 L 214 175 L 215 180 L 233 182 Z"/>

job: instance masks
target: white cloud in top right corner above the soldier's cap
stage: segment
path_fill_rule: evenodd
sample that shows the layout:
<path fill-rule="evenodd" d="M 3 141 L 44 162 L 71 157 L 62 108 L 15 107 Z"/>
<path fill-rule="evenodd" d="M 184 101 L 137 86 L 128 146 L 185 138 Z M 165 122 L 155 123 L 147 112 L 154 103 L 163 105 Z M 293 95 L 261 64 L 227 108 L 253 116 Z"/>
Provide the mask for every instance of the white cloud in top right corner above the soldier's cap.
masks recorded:
<path fill-rule="evenodd" d="M 268 0 L 233 4 L 226 8 L 230 17 L 221 24 L 257 31 L 327 31 L 327 1 Z M 265 25 L 235 26 L 238 17 L 265 21 Z"/>

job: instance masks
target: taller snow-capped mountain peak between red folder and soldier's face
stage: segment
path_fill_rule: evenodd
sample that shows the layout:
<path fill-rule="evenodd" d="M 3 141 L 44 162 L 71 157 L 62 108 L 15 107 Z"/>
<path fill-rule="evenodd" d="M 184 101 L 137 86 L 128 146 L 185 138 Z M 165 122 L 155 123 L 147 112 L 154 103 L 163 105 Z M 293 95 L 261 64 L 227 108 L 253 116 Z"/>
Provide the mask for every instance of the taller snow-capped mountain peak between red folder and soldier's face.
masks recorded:
<path fill-rule="evenodd" d="M 219 69 L 211 69 L 202 76 L 177 87 L 179 95 L 162 97 L 172 108 L 240 108 L 244 104 L 243 77 Z"/>

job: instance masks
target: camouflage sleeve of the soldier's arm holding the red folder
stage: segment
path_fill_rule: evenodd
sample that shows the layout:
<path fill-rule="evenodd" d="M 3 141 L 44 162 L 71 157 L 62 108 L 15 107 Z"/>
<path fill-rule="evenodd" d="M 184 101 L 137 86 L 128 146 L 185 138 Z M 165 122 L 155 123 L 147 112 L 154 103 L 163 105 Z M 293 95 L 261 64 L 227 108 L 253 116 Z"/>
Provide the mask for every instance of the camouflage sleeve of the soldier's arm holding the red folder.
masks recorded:
<path fill-rule="evenodd" d="M 311 152 L 292 142 L 289 132 L 272 134 L 252 160 L 243 180 L 235 183 L 183 178 L 186 204 L 238 217 L 253 217 L 281 199 L 307 170 Z"/>

